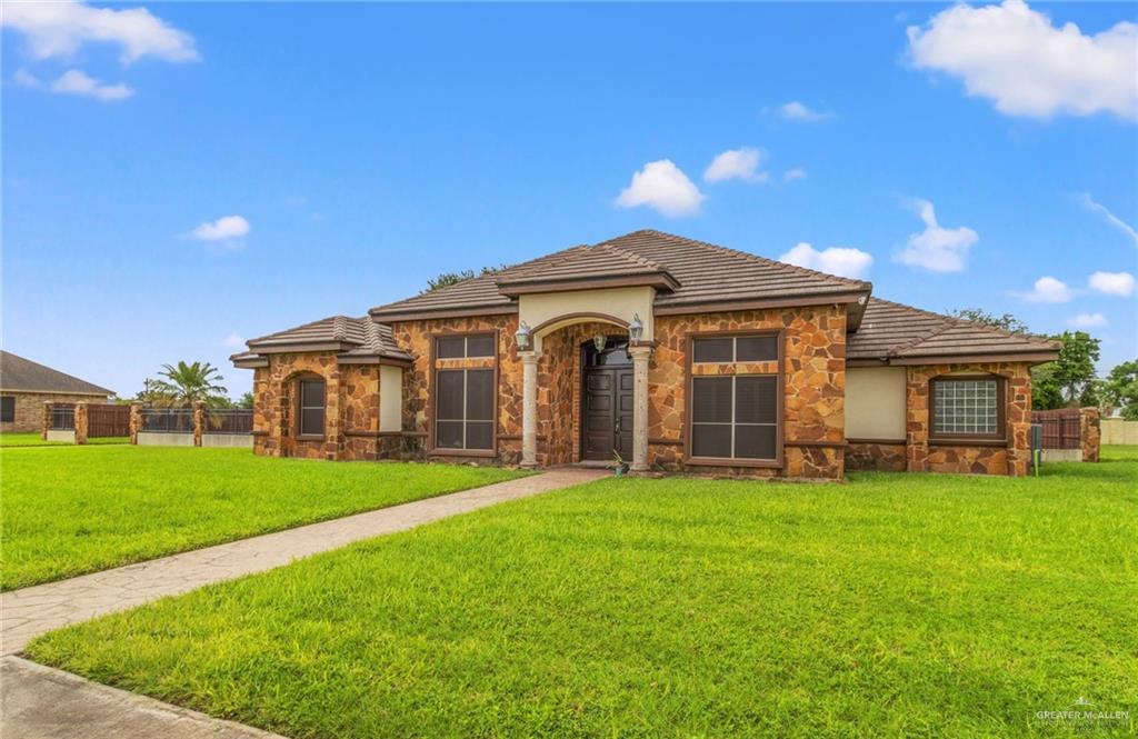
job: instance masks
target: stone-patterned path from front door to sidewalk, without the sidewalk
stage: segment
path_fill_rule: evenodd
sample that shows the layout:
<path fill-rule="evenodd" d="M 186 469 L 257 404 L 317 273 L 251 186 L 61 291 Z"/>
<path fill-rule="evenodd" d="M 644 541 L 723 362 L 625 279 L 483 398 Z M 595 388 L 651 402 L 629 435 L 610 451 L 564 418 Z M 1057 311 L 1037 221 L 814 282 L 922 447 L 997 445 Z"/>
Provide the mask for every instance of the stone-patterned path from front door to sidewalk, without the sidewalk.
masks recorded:
<path fill-rule="evenodd" d="M 0 655 L 19 652 L 35 637 L 68 624 L 126 610 L 164 596 L 280 567 L 300 557 L 337 549 L 362 539 L 413 528 L 508 500 L 579 485 L 607 474 L 595 469 L 554 469 L 485 487 L 0 593 Z"/>

